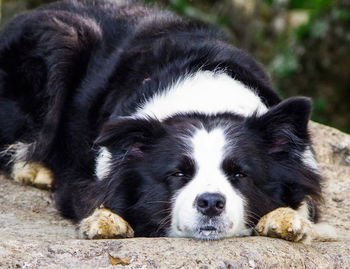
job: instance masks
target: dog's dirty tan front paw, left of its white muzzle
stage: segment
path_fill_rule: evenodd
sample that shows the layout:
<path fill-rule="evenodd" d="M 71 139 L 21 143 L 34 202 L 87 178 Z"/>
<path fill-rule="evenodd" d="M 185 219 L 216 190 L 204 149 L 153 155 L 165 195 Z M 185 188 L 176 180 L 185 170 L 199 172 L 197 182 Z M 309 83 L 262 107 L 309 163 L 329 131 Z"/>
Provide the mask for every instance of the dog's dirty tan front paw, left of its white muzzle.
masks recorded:
<path fill-rule="evenodd" d="M 106 208 L 97 208 L 79 224 L 79 237 L 108 239 L 133 237 L 134 230 L 122 217 Z"/>

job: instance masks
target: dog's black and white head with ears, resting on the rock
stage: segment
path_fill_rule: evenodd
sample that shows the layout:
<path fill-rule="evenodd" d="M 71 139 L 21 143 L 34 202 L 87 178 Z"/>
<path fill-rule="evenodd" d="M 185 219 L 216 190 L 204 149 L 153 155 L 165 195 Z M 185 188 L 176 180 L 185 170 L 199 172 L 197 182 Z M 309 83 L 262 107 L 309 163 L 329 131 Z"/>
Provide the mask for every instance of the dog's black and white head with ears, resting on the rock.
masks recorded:
<path fill-rule="evenodd" d="M 97 140 L 108 156 L 99 175 L 105 205 L 136 235 L 248 235 L 269 211 L 319 195 L 310 110 L 308 99 L 293 98 L 247 118 L 191 113 L 111 121 Z"/>

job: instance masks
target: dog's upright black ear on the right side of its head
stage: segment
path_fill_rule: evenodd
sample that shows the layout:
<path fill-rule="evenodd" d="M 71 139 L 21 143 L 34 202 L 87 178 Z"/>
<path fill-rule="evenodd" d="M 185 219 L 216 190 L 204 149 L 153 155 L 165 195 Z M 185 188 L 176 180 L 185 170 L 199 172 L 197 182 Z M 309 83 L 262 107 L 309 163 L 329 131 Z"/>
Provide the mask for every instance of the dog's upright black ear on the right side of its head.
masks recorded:
<path fill-rule="evenodd" d="M 309 141 L 307 124 L 311 108 L 308 98 L 289 98 L 261 116 L 248 118 L 246 124 L 267 142 L 268 153 L 288 152 L 291 147 L 303 146 Z"/>

